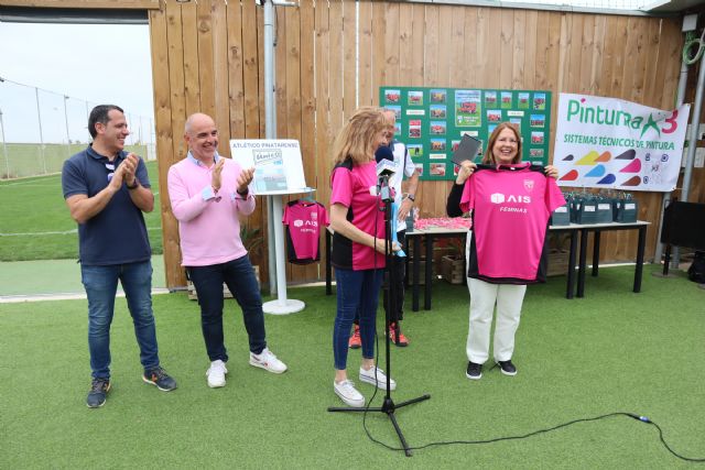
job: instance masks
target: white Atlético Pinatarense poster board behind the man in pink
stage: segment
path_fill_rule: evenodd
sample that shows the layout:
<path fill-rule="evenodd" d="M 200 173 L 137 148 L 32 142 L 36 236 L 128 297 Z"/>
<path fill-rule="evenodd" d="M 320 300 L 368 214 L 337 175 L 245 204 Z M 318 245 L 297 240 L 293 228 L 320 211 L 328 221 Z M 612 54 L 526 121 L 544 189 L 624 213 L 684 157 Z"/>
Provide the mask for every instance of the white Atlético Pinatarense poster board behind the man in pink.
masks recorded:
<path fill-rule="evenodd" d="M 243 168 L 254 167 L 256 194 L 296 193 L 306 187 L 296 140 L 232 139 L 230 154 Z"/>

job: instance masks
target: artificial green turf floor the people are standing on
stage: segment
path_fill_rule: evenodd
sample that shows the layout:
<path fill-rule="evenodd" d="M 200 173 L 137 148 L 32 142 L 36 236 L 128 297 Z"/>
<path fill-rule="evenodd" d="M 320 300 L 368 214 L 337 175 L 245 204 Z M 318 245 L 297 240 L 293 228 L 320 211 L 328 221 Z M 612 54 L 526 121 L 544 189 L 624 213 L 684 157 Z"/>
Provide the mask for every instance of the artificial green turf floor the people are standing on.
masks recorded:
<path fill-rule="evenodd" d="M 530 286 L 517 335 L 516 378 L 498 369 L 465 378 L 468 295 L 437 283 L 431 311 L 406 311 L 411 345 L 393 348 L 397 402 L 430 393 L 397 417 L 411 445 L 522 435 L 610 412 L 647 415 L 672 447 L 705 457 L 705 291 L 685 278 L 652 277 L 631 292 L 633 267 L 600 270 L 586 297 L 563 297 L 564 278 Z M 626 417 L 583 423 L 524 440 L 419 450 L 412 459 L 368 440 L 361 415 L 334 415 L 335 297 L 323 287 L 289 291 L 304 311 L 267 316 L 279 376 L 247 363 L 241 316 L 229 300 L 225 389 L 206 386 L 197 305 L 154 297 L 163 365 L 180 383 L 163 393 L 140 380 L 124 300 L 112 326 L 113 390 L 88 409 L 85 302 L 0 304 L 0 468 L 680 468 L 657 429 Z M 359 352 L 351 351 L 355 371 Z M 351 373 L 352 379 L 356 374 Z M 358 381 L 359 382 L 359 381 Z M 372 387 L 359 385 L 371 396 Z M 379 403 L 380 395 L 376 400 Z M 387 417 L 367 419 L 398 446 Z"/>

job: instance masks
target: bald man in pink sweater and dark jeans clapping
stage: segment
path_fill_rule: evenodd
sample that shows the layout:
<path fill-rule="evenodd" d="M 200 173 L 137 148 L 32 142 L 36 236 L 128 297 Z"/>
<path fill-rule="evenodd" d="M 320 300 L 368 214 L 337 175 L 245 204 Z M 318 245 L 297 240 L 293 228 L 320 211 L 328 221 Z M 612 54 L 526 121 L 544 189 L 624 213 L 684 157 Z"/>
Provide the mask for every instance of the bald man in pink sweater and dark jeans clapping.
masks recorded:
<path fill-rule="evenodd" d="M 286 365 L 267 348 L 264 314 L 254 270 L 240 239 L 240 214 L 254 210 L 248 185 L 254 168 L 243 170 L 218 155 L 218 130 L 203 113 L 188 117 L 186 159 L 169 170 L 169 197 L 178 220 L 182 265 L 200 305 L 200 325 L 210 367 L 209 387 L 225 386 L 228 353 L 223 339 L 223 283 L 242 308 L 250 342 L 250 364 L 273 373 Z"/>

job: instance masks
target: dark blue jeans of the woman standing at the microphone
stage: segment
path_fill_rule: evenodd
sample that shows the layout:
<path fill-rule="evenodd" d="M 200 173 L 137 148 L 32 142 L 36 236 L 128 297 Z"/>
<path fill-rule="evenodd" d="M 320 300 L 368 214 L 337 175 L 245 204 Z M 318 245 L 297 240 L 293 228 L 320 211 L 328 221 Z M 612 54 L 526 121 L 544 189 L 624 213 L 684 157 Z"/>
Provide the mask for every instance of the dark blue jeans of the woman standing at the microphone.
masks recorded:
<path fill-rule="evenodd" d="M 375 358 L 377 297 L 384 270 L 335 270 L 338 306 L 333 327 L 333 357 L 336 370 L 345 370 L 348 360 L 348 338 L 356 313 L 360 317 L 362 358 Z"/>

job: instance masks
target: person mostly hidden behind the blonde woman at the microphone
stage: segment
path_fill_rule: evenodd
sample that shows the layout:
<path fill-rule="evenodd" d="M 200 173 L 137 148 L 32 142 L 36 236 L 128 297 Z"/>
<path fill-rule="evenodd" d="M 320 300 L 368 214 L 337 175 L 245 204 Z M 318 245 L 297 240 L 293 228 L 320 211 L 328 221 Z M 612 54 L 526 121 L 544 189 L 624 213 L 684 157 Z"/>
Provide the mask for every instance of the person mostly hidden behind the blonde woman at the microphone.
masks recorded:
<path fill-rule="evenodd" d="M 387 131 L 387 145 L 394 154 L 394 166 L 399 168 L 390 178 L 389 185 L 394 188 L 394 205 L 398 207 L 397 211 L 397 240 L 400 245 L 405 247 L 406 234 L 406 216 L 414 206 L 416 187 L 419 186 L 419 174 L 414 163 L 409 157 L 406 145 L 403 142 L 399 142 L 394 139 L 394 130 L 397 124 L 397 114 L 390 109 L 383 111 L 384 118 L 388 123 Z M 403 177 L 409 178 L 409 186 L 406 187 L 408 194 L 402 195 L 401 182 Z M 401 332 L 401 320 L 404 317 L 404 276 L 405 276 L 406 260 L 400 256 L 392 256 L 392 263 L 389 269 L 394 270 L 397 284 L 391 288 L 384 288 L 384 308 L 387 308 L 387 296 L 391 291 L 395 300 L 395 308 L 389 313 L 389 336 L 392 342 L 400 347 L 409 346 L 409 339 Z M 355 326 L 352 336 L 348 341 L 348 347 L 351 349 L 358 349 L 361 346 L 360 341 L 360 327 L 358 319 L 355 319 Z"/>

